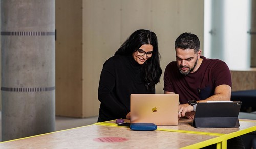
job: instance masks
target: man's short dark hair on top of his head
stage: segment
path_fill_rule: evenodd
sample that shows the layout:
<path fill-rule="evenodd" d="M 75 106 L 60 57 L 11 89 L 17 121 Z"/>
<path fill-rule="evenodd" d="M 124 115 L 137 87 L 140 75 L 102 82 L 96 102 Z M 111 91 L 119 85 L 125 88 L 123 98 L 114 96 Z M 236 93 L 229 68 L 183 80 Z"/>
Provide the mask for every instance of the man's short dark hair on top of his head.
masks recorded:
<path fill-rule="evenodd" d="M 200 41 L 197 35 L 192 33 L 183 33 L 175 40 L 175 49 L 194 49 L 197 53 L 200 49 Z"/>

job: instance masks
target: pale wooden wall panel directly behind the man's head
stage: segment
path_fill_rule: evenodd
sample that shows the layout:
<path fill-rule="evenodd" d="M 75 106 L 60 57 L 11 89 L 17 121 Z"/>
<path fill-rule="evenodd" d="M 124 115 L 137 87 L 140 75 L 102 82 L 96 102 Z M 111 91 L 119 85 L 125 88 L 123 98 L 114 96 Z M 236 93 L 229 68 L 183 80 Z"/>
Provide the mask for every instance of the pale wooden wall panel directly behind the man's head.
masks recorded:
<path fill-rule="evenodd" d="M 151 29 L 157 34 L 161 54 L 161 68 L 175 61 L 174 42 L 184 33 L 191 32 L 198 36 L 203 51 L 204 1 L 151 1 Z M 191 7 L 193 6 L 193 7 Z M 196 11 L 195 11 L 196 9 Z M 196 24 L 196 25 L 194 25 Z M 163 74 L 156 86 L 157 93 L 163 93 Z"/>

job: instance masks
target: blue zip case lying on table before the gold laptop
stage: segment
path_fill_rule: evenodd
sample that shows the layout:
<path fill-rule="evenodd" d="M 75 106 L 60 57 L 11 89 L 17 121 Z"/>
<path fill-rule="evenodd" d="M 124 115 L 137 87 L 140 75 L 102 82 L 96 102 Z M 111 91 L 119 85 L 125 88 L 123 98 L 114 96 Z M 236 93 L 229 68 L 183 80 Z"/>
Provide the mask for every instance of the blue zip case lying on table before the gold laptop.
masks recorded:
<path fill-rule="evenodd" d="M 157 125 L 154 123 L 131 123 L 130 129 L 136 131 L 153 131 L 157 129 Z"/>

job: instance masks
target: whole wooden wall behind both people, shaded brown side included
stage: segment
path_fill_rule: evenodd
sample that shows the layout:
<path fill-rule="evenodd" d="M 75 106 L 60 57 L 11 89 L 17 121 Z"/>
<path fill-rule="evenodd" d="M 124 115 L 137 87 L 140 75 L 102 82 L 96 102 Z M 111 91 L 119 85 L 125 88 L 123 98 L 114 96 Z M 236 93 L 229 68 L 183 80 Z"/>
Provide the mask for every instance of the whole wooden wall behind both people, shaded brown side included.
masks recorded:
<path fill-rule="evenodd" d="M 98 115 L 103 63 L 137 29 L 157 34 L 164 72 L 181 33 L 195 33 L 203 43 L 203 7 L 203 0 L 57 0 L 56 114 Z M 163 93 L 162 78 L 156 93 Z"/>

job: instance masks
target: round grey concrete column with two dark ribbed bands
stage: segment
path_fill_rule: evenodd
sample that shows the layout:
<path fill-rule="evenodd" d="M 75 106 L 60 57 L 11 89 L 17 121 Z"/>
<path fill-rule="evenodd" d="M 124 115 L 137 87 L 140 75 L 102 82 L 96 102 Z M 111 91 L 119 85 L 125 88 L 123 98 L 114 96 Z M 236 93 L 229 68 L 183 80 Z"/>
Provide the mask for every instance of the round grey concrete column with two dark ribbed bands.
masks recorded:
<path fill-rule="evenodd" d="M 55 129 L 55 1 L 2 0 L 2 141 Z"/>

